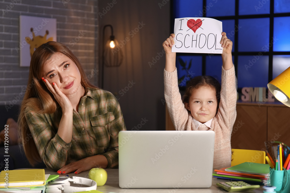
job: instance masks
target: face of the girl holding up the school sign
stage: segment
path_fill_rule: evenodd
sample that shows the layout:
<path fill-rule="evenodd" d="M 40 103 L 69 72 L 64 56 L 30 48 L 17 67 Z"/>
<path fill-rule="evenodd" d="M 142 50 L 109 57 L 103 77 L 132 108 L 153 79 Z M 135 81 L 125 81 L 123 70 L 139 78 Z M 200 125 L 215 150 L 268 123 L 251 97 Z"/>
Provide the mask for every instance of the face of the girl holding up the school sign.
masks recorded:
<path fill-rule="evenodd" d="M 216 91 L 208 85 L 194 89 L 189 103 L 186 103 L 187 110 L 190 110 L 193 118 L 201 123 L 205 123 L 215 116 L 217 106 Z"/>

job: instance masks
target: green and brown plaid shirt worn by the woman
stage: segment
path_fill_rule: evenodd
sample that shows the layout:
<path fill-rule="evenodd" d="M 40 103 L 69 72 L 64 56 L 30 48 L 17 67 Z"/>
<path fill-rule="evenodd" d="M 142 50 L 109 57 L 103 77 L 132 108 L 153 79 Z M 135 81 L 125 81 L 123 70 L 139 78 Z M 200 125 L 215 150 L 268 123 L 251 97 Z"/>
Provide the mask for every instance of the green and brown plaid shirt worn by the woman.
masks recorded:
<path fill-rule="evenodd" d="M 41 159 L 48 168 L 58 170 L 68 163 L 93 155 L 104 155 L 107 168 L 118 166 L 118 133 L 126 130 L 120 105 L 115 96 L 102 89 L 87 89 L 73 110 L 73 136 L 64 142 L 57 129 L 61 108 L 53 114 L 40 114 L 26 108 L 26 120 Z"/>

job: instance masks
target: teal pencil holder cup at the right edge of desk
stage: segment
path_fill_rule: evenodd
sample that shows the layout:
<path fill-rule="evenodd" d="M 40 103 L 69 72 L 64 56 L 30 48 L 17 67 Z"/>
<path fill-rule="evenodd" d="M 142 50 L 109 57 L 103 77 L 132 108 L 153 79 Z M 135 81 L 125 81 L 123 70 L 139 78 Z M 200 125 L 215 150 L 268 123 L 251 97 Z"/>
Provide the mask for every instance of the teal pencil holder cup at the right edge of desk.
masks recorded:
<path fill-rule="evenodd" d="M 290 192 L 290 170 L 275 170 L 270 171 L 270 185 L 276 186 L 277 193 Z M 280 191 L 280 192 L 279 192 Z"/>

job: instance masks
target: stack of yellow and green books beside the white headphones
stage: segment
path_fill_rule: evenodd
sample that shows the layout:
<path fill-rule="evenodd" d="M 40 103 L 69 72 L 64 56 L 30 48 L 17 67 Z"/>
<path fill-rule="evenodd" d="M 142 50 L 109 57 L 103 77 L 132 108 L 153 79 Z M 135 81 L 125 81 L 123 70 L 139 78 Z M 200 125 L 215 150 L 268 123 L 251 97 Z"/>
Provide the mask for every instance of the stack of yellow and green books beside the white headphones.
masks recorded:
<path fill-rule="evenodd" d="M 45 174 L 44 169 L 9 170 L 0 173 L 0 191 L 45 193 L 45 185 L 59 175 Z"/>

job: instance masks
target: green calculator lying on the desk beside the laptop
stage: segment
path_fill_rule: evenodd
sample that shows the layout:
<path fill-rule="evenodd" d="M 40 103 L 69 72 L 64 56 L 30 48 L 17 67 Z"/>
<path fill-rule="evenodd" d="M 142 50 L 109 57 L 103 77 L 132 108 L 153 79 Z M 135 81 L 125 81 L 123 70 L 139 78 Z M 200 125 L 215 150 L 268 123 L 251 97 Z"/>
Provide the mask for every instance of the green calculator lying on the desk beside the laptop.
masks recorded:
<path fill-rule="evenodd" d="M 250 191 L 260 188 L 260 185 L 250 185 L 243 181 L 220 182 L 217 185 L 228 192 Z"/>

